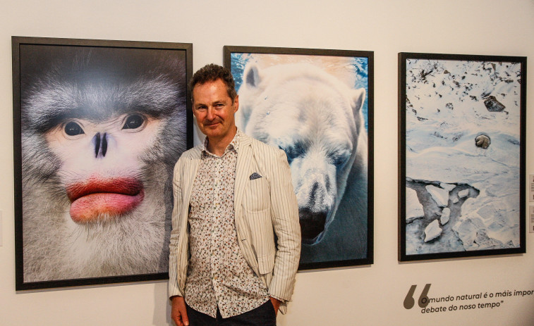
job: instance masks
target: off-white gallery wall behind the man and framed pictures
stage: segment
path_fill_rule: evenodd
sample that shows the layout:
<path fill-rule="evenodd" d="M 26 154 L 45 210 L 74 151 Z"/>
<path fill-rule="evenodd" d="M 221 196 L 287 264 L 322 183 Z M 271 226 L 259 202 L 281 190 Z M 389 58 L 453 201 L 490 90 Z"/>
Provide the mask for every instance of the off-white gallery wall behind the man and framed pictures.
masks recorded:
<path fill-rule="evenodd" d="M 397 53 L 530 61 L 533 32 L 532 0 L 2 0 L 0 324 L 170 325 L 166 282 L 15 291 L 11 35 L 20 35 L 191 42 L 195 70 L 222 64 L 224 45 L 375 51 L 375 263 L 299 272 L 294 301 L 279 325 L 534 325 L 534 296 L 506 297 L 498 308 L 473 311 L 403 308 L 412 284 L 418 285 L 416 299 L 426 283 L 432 296 L 534 289 L 532 234 L 523 255 L 399 263 L 396 222 Z M 530 126 L 534 67 L 527 98 Z M 534 173 L 533 132 L 527 133 L 527 173 Z"/>

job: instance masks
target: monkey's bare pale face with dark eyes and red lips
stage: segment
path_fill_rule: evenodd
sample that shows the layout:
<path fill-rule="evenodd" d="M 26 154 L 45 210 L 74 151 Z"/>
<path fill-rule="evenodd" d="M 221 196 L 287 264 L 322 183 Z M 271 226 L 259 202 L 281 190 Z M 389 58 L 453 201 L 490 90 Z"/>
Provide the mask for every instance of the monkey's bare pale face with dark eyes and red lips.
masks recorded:
<path fill-rule="evenodd" d="M 45 134 L 63 162 L 58 173 L 74 222 L 120 218 L 142 203 L 145 189 L 138 167 L 142 153 L 157 140 L 160 125 L 158 119 L 129 113 L 98 123 L 68 119 Z"/>

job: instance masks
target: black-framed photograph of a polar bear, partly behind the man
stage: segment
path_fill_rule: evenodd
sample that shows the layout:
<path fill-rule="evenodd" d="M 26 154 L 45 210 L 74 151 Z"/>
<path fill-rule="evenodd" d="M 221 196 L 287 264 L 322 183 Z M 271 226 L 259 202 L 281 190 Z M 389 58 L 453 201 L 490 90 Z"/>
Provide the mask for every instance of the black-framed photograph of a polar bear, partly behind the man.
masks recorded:
<path fill-rule="evenodd" d="M 236 125 L 286 152 L 299 269 L 372 263 L 373 53 L 224 46 Z"/>

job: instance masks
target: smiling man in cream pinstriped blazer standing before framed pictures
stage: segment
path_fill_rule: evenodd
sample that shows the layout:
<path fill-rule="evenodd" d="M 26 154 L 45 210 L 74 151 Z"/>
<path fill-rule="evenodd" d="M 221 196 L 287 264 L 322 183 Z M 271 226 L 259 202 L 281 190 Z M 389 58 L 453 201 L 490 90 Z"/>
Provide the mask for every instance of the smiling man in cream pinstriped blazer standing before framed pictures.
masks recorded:
<path fill-rule="evenodd" d="M 178 326 L 276 325 L 301 251 L 286 155 L 237 130 L 229 70 L 206 65 L 190 89 L 206 139 L 174 168 L 171 318 Z"/>

